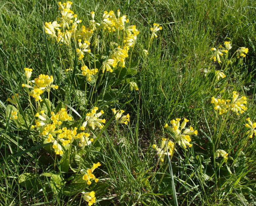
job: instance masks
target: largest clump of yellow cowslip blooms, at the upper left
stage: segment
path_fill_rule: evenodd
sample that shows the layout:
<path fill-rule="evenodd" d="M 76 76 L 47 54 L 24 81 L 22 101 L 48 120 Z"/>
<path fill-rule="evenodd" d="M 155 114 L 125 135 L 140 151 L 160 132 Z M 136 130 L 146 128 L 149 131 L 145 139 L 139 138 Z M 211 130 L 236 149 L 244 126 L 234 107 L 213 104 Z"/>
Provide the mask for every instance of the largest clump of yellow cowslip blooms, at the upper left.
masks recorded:
<path fill-rule="evenodd" d="M 71 10 L 72 2 L 58 2 L 58 5 L 59 17 L 57 21 L 45 23 L 45 33 L 48 40 L 52 43 L 60 46 L 64 44 L 68 48 L 74 48 L 81 65 L 82 75 L 86 77 L 88 82 L 96 78 L 99 70 L 103 73 L 105 71 L 113 72 L 118 66 L 125 66 L 125 59 L 128 57 L 129 48 L 134 47 L 139 34 L 135 25 L 127 25 L 129 19 L 127 19 L 126 15 L 121 16 L 119 9 L 116 14 L 114 11 L 104 11 L 101 21 L 96 22 L 95 12 L 91 11 L 91 20 L 88 22 L 89 25 L 85 26 L 81 25 L 82 21 Z M 96 52 L 99 54 L 100 49 L 96 47 L 99 46 L 100 41 L 98 37 L 100 34 L 103 36 L 104 46 L 105 36 L 109 33 L 117 35 L 115 39 L 117 42 L 111 42 L 110 40 L 110 51 L 107 60 L 103 62 L 100 69 L 96 68 L 96 66 L 93 68 L 90 63 L 86 65 L 87 57 L 92 56 L 91 52 L 94 55 Z M 73 45 L 73 43 L 76 45 Z M 103 51 L 103 47 L 101 51 Z M 70 49 L 69 52 L 71 52 Z M 73 54 L 70 53 L 70 56 L 73 58 Z"/>

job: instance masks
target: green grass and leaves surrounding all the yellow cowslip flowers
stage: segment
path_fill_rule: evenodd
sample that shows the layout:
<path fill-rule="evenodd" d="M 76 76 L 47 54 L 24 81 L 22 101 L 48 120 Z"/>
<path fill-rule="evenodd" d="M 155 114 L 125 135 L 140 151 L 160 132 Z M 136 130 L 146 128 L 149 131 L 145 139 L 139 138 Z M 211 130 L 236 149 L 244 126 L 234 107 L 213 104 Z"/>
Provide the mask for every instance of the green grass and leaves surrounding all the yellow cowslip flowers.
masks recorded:
<path fill-rule="evenodd" d="M 84 118 L 92 105 L 106 111 L 110 126 L 94 133 L 97 141 L 84 158 L 79 153 L 74 157 L 78 164 L 83 161 L 83 170 L 92 162 L 101 162 L 96 171 L 99 183 L 86 189 L 96 191 L 96 204 L 174 205 L 167 158 L 157 165 L 152 145 L 159 144 L 162 137 L 170 138 L 163 130 L 165 123 L 185 117 L 199 134 L 192 136 L 191 148 L 177 146 L 171 159 L 178 204 L 255 205 L 255 140 L 246 138 L 244 126 L 247 117 L 255 122 L 256 114 L 255 6 L 253 0 L 75 1 L 72 10 L 83 23 L 90 19 L 92 10 L 99 21 L 104 10 L 120 9 L 140 31 L 131 63 L 126 62 L 129 69 L 137 71 L 129 78 L 136 80 L 139 92 L 128 91 L 126 84 L 114 84 L 112 89 L 118 89 L 118 93 L 107 90 L 98 96 L 102 101 L 96 101 L 97 96 L 88 100 L 84 95 L 83 83 L 75 84 L 79 80 L 75 73 L 74 78 L 64 78 L 63 68 L 69 62 L 63 53 L 60 58 L 56 47 L 44 37 L 43 23 L 56 19 L 57 2 L 1 1 L 1 204 L 83 204 L 80 190 L 67 195 L 69 188 L 74 189 L 70 179 L 74 171 L 68 169 L 60 175 L 55 170 L 54 176 L 48 175 L 53 172 L 53 165 L 62 164 L 61 160 L 54 159 L 36 141 L 36 134 L 26 121 L 24 127 L 19 127 L 6 115 L 10 104 L 7 98 L 19 93 L 19 111 L 24 111 L 23 119 L 28 118 L 28 95 L 21 87 L 26 82 L 23 68 L 28 67 L 33 68 L 33 77 L 41 73 L 53 75 L 59 90 L 51 92 L 52 103 L 67 105 L 78 124 L 82 121 L 79 115 Z M 149 28 L 155 22 L 163 30 L 158 31 L 159 37 L 152 41 L 145 57 L 143 49 L 148 48 Z M 209 60 L 210 48 L 227 40 L 232 43 L 232 52 L 238 47 L 248 47 L 249 52 L 241 64 L 236 61 L 226 66 L 226 78 L 214 82 L 213 72 L 221 66 Z M 92 89 L 88 90 L 90 94 L 94 93 Z M 247 97 L 248 109 L 239 117 L 216 117 L 210 98 L 227 99 L 234 90 Z M 129 112 L 129 126 L 115 127 L 111 122 L 113 107 Z M 217 147 L 214 141 L 218 138 Z M 228 153 L 227 162 L 222 158 L 215 161 L 217 149 Z"/>

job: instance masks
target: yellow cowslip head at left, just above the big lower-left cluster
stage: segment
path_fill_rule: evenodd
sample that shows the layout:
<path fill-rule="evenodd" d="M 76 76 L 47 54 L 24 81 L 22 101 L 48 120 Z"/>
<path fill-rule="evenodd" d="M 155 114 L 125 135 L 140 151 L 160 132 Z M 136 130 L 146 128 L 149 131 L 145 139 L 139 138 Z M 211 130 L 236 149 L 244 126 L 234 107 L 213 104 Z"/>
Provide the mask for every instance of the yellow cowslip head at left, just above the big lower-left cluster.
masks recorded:
<path fill-rule="evenodd" d="M 52 75 L 49 76 L 45 74 L 40 74 L 34 80 L 29 81 L 29 78 L 31 77 L 31 74 L 32 74 L 32 69 L 24 68 L 24 70 L 25 70 L 25 76 L 27 78 L 27 84 L 22 84 L 21 86 L 32 89 L 29 95 L 35 98 L 36 102 L 38 101 L 42 102 L 41 95 L 45 90 L 47 92 L 50 92 L 51 88 L 58 89 L 58 86 L 53 84 Z M 32 84 L 34 84 L 34 86 L 31 86 Z"/>

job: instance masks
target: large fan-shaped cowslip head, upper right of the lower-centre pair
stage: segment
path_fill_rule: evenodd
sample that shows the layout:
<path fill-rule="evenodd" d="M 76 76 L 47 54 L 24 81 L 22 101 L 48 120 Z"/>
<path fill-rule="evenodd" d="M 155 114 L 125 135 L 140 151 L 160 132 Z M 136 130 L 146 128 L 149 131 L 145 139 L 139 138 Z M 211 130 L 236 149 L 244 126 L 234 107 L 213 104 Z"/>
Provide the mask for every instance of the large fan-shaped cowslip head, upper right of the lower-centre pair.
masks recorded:
<path fill-rule="evenodd" d="M 191 142 L 191 135 L 197 135 L 197 130 L 194 130 L 192 126 L 185 129 L 185 126 L 189 120 L 184 118 L 184 121 L 180 125 L 180 118 L 176 118 L 176 120 L 171 120 L 170 123 L 172 126 L 169 126 L 168 124 L 164 125 L 164 128 L 169 130 L 174 136 L 174 142 L 178 143 L 179 145 L 182 145 L 183 148 L 187 148 L 187 146 L 192 147 Z M 183 132 L 182 130 L 185 129 Z"/>

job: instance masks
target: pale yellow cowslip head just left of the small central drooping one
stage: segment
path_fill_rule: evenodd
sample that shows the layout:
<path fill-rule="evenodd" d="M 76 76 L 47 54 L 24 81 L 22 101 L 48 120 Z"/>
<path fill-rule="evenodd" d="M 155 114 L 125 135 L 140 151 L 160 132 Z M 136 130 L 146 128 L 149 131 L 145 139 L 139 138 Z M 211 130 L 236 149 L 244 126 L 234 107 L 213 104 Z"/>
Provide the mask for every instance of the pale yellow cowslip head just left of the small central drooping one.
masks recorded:
<path fill-rule="evenodd" d="M 103 123 L 106 122 L 105 119 L 99 119 L 99 117 L 104 114 L 103 110 L 100 110 L 100 112 L 97 113 L 98 107 L 94 107 L 94 109 L 91 110 L 91 112 L 86 114 L 85 117 L 85 122 L 83 122 L 81 126 L 81 130 L 84 130 L 85 127 L 88 125 L 90 126 L 93 130 L 95 127 L 98 127 L 100 129 L 103 128 Z"/>

